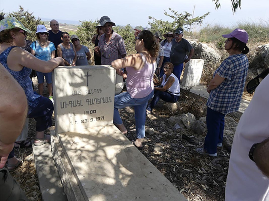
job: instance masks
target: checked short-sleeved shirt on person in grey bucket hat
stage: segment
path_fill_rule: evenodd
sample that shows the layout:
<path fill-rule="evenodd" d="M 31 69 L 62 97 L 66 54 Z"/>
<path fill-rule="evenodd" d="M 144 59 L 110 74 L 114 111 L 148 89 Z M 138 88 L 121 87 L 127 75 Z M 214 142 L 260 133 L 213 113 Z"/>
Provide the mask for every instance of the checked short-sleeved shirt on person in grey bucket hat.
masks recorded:
<path fill-rule="evenodd" d="M 105 34 L 100 36 L 98 46 L 101 52 L 101 64 L 111 65 L 111 62 L 120 59 L 126 54 L 123 38 L 113 31 L 111 39 L 106 43 Z"/>

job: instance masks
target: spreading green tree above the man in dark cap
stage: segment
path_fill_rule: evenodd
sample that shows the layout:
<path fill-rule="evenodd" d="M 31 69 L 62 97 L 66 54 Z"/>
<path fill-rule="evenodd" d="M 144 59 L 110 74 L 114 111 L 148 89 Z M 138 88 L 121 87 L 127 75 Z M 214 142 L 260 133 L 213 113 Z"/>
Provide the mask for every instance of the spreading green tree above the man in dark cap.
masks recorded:
<path fill-rule="evenodd" d="M 157 20 L 149 16 L 149 19 L 152 20 L 152 22 L 149 21 L 150 29 L 152 32 L 157 30 L 161 31 L 162 33 L 168 31 L 173 32 L 178 27 L 189 30 L 189 27 L 193 24 L 202 24 L 204 18 L 210 14 L 210 12 L 207 12 L 200 17 L 192 18 L 192 14 L 186 11 L 184 13 L 178 13 L 178 11 L 172 10 L 171 8 L 169 8 L 169 10 L 172 12 L 172 14 L 168 14 L 166 11 L 164 11 L 164 15 L 172 18 L 173 22 Z"/>

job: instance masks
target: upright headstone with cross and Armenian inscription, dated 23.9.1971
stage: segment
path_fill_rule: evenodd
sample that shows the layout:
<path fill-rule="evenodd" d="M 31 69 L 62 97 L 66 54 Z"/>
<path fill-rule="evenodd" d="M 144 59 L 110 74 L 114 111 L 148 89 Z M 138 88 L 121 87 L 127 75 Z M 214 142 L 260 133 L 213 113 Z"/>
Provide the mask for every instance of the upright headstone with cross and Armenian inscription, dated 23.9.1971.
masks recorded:
<path fill-rule="evenodd" d="M 110 66 L 58 67 L 53 72 L 56 133 L 111 124 L 115 70 Z"/>

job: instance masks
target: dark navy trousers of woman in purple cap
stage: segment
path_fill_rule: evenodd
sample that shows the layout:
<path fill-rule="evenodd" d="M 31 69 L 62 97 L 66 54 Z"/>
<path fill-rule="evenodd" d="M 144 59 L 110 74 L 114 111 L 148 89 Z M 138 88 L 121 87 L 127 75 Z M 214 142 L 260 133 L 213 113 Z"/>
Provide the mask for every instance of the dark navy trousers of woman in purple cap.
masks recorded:
<path fill-rule="evenodd" d="M 222 143 L 224 116 L 225 114 L 207 107 L 207 136 L 204 139 L 204 149 L 210 154 L 216 153 L 217 144 Z"/>

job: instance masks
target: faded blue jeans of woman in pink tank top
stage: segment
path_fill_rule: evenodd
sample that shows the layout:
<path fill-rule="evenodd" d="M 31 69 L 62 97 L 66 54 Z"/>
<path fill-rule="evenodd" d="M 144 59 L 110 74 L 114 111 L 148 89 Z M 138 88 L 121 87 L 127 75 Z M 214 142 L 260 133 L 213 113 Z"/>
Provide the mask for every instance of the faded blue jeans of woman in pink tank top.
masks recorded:
<path fill-rule="evenodd" d="M 152 91 L 148 96 L 144 98 L 132 98 L 128 92 L 124 92 L 115 96 L 114 102 L 114 124 L 122 124 L 118 109 L 122 109 L 128 106 L 134 106 L 135 108 L 135 129 L 138 139 L 145 137 L 145 122 L 146 122 L 146 107 L 149 99 L 153 96 Z"/>

